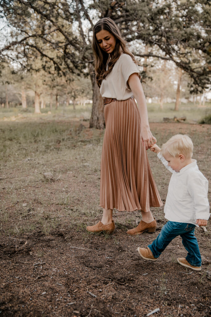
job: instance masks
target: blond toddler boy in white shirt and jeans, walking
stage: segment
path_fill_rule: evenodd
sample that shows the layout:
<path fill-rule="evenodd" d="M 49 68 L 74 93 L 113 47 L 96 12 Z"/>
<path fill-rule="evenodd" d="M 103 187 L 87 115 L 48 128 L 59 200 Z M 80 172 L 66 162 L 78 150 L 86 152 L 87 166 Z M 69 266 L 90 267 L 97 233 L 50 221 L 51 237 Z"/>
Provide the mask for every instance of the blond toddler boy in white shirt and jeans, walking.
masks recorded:
<path fill-rule="evenodd" d="M 177 134 L 160 149 L 156 144 L 151 151 L 157 153 L 165 167 L 171 171 L 168 194 L 164 206 L 165 218 L 158 237 L 147 248 L 138 248 L 140 256 L 157 261 L 161 252 L 176 236 L 181 236 L 188 251 L 186 258 L 177 262 L 195 271 L 201 271 L 201 255 L 195 237 L 195 226 L 206 226 L 209 214 L 208 180 L 192 159 L 193 143 L 189 136 Z"/>

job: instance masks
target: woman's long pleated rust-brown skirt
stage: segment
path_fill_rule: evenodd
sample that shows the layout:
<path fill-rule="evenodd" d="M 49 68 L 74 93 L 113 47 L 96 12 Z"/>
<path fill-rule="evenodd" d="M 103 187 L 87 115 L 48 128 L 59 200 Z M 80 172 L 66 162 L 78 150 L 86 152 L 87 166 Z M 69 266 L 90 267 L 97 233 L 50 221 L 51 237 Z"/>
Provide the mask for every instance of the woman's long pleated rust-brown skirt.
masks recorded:
<path fill-rule="evenodd" d="M 142 145 L 141 120 L 134 98 L 113 101 L 104 108 L 100 206 L 119 211 L 162 206 Z"/>

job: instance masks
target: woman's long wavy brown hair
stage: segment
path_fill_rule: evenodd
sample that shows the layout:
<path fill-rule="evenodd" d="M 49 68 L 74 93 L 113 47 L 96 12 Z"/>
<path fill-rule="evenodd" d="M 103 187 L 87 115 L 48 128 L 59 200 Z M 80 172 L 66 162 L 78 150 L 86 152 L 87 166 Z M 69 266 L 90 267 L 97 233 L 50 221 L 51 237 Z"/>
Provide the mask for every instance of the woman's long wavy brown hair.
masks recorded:
<path fill-rule="evenodd" d="M 114 51 L 111 55 L 104 52 L 96 39 L 96 34 L 101 30 L 106 30 L 115 36 L 116 45 Z M 97 85 L 100 87 L 102 80 L 106 78 L 108 74 L 112 71 L 115 62 L 120 57 L 121 53 L 128 54 L 132 57 L 133 61 L 137 64 L 135 57 L 126 47 L 127 42 L 122 38 L 120 30 L 116 23 L 110 18 L 100 19 L 93 28 L 93 38 L 92 38 L 92 48 L 94 51 L 94 64 L 95 64 L 95 74 Z M 111 57 L 111 58 L 110 58 Z M 110 58 L 110 60 L 109 60 Z M 108 62 L 109 61 L 109 62 Z M 108 64 L 108 69 L 106 70 L 106 66 Z"/>

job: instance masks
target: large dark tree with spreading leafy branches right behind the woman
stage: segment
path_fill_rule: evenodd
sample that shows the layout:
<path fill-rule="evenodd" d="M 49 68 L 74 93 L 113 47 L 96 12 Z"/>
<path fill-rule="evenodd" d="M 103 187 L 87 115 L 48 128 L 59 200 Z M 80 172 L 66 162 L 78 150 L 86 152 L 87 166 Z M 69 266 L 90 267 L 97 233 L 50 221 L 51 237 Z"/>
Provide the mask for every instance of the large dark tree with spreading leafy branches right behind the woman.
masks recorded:
<path fill-rule="evenodd" d="M 100 17 L 115 20 L 136 56 L 172 61 L 189 74 L 192 93 L 202 93 L 209 85 L 211 9 L 208 1 L 25 1 L 26 8 L 22 9 L 22 1 L 17 0 L 0 1 L 0 5 L 0 14 L 7 19 L 8 26 L 17 30 L 0 50 L 2 59 L 19 58 L 26 67 L 23 57 L 31 48 L 51 61 L 64 76 L 67 71 L 90 74 L 93 88 L 90 126 L 104 126 L 103 103 L 94 80 L 90 45 L 93 23 Z M 136 43 L 147 45 L 148 52 L 140 52 Z M 14 48 L 19 55 L 10 53 Z"/>

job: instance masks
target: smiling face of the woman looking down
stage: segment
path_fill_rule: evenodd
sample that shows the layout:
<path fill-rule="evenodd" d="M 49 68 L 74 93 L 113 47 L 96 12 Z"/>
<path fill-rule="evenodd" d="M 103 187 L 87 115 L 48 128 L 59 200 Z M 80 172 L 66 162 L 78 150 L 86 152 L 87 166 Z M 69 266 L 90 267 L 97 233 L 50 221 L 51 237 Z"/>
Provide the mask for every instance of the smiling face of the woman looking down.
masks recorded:
<path fill-rule="evenodd" d="M 116 38 L 111 34 L 109 31 L 101 30 L 100 32 L 96 33 L 96 39 L 100 46 L 100 48 L 108 53 L 111 54 L 116 45 Z"/>

